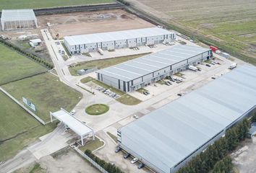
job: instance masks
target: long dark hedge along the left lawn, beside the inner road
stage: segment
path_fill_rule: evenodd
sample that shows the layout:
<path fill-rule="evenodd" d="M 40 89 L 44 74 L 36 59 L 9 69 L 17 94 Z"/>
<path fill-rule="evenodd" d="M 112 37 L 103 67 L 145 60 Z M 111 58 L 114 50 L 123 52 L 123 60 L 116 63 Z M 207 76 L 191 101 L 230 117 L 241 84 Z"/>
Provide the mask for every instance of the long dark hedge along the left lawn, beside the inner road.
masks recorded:
<path fill-rule="evenodd" d="M 46 66 L 46 68 L 50 68 L 50 69 L 54 68 L 54 65 L 52 63 L 44 61 L 43 59 L 39 58 L 38 56 L 33 55 L 32 53 L 27 53 L 25 50 L 22 50 L 21 48 L 17 47 L 16 45 L 13 45 L 12 43 L 7 42 L 6 40 L 3 40 L 0 38 L 0 43 L 3 43 L 4 45 L 16 50 L 17 52 L 21 53 L 22 55 L 33 59 L 33 61 L 38 62 L 38 63 L 42 64 L 43 66 Z"/>

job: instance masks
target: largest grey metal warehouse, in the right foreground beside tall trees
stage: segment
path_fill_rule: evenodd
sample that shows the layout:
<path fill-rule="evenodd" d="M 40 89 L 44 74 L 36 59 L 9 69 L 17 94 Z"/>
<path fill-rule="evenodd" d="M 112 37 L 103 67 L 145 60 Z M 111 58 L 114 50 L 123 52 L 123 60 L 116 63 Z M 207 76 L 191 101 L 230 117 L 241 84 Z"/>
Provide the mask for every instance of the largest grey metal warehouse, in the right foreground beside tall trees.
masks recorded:
<path fill-rule="evenodd" d="M 242 66 L 120 128 L 119 146 L 173 173 L 255 108 L 256 68 Z"/>

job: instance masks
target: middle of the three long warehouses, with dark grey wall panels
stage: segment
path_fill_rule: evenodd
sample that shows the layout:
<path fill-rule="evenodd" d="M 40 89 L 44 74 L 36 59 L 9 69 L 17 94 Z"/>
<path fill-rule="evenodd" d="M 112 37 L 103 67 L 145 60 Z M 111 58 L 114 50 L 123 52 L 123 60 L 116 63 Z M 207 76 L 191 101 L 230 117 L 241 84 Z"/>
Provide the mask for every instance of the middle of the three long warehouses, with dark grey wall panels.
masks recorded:
<path fill-rule="evenodd" d="M 177 45 L 158 53 L 101 69 L 97 71 L 97 79 L 121 91 L 132 92 L 182 71 L 189 65 L 208 60 L 212 56 L 211 50 L 207 48 Z"/>

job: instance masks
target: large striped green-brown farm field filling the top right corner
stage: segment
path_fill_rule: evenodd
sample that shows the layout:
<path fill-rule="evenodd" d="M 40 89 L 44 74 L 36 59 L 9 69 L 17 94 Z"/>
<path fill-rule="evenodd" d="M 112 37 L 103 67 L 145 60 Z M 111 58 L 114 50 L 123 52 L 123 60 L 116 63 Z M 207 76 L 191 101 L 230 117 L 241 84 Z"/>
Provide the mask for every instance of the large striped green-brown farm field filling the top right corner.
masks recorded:
<path fill-rule="evenodd" d="M 128 0 L 169 26 L 256 65 L 256 0 Z"/>

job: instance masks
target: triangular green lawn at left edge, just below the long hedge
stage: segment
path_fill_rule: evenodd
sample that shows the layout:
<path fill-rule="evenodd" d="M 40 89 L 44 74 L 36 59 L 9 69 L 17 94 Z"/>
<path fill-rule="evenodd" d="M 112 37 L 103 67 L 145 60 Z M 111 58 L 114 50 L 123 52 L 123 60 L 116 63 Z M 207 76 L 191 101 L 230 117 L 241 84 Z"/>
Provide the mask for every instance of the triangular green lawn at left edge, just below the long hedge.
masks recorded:
<path fill-rule="evenodd" d="M 0 44 L 0 85 L 43 71 L 47 69 Z"/>

